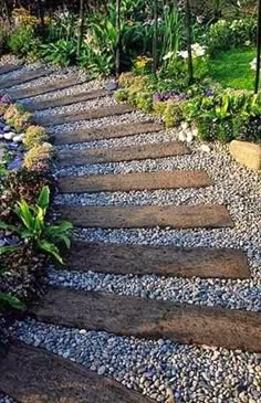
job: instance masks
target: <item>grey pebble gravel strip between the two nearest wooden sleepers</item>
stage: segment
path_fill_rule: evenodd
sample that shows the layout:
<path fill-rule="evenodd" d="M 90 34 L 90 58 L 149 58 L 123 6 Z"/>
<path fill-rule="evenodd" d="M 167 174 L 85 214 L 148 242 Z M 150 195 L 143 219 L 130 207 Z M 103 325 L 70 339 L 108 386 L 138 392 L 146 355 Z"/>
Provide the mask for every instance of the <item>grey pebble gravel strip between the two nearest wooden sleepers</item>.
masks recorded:
<path fill-rule="evenodd" d="M 122 382 L 158 402 L 258 403 L 261 356 L 170 340 L 117 337 L 34 320 L 17 322 L 12 335 Z M 232 371 L 231 371 L 232 370 Z"/>

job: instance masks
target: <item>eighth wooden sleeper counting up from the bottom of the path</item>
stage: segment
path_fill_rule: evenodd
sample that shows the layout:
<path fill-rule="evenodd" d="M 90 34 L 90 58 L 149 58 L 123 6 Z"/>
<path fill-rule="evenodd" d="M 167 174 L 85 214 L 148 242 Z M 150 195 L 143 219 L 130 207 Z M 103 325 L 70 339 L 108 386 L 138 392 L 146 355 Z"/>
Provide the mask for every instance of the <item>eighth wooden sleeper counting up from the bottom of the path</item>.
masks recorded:
<path fill-rule="evenodd" d="M 103 106 L 100 108 L 91 108 L 87 110 L 80 112 L 67 112 L 65 114 L 50 115 L 50 116 L 34 116 L 33 120 L 35 124 L 41 126 L 53 126 L 64 125 L 81 120 L 101 119 L 108 116 L 118 116 L 129 114 L 134 112 L 134 108 L 124 104 Z"/>

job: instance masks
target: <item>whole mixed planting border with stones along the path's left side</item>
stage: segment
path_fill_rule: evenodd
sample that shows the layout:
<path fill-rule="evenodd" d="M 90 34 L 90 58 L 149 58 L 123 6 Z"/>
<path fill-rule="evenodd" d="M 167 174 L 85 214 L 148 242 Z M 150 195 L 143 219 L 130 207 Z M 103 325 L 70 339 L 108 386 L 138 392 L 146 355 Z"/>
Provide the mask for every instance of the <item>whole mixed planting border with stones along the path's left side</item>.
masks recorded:
<path fill-rule="evenodd" d="M 41 294 L 50 258 L 63 264 L 71 223 L 48 218 L 53 148 L 43 127 L 0 98 L 0 319 Z M 1 340 L 0 331 L 0 340 Z"/>

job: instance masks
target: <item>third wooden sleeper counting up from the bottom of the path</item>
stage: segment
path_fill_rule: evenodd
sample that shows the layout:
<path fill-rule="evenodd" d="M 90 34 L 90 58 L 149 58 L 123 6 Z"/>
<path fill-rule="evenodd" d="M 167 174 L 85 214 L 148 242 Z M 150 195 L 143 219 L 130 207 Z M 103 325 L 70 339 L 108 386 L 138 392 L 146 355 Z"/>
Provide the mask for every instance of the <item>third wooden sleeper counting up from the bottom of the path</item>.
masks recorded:
<path fill-rule="evenodd" d="M 240 250 L 122 245 L 73 241 L 66 266 L 58 269 L 116 275 L 159 275 L 201 278 L 250 278 Z"/>

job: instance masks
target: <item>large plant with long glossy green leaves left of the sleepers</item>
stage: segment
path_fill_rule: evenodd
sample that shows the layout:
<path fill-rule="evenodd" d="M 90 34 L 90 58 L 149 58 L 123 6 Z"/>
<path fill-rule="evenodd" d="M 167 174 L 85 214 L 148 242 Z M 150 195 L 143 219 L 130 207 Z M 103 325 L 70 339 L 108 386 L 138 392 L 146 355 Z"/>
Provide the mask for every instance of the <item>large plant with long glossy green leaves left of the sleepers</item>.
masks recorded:
<path fill-rule="evenodd" d="M 64 244 L 70 248 L 70 231 L 72 224 L 63 221 L 58 225 L 46 224 L 45 216 L 50 204 L 50 189 L 43 187 L 35 205 L 29 205 L 25 200 L 17 203 L 15 214 L 20 220 L 19 225 L 10 225 L 0 221 L 0 229 L 12 231 L 35 248 L 45 252 L 63 264 L 58 245 Z"/>

